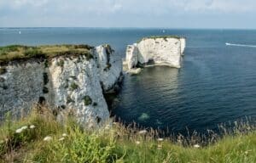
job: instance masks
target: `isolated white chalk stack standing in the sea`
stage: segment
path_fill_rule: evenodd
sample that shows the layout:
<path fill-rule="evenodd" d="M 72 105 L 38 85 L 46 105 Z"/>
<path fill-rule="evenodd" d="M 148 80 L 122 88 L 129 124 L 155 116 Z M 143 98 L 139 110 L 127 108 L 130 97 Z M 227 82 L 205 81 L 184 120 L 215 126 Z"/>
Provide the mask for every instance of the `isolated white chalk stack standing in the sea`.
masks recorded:
<path fill-rule="evenodd" d="M 180 68 L 185 46 L 183 37 L 147 37 L 127 46 L 125 61 L 128 69 L 147 64 Z"/>

